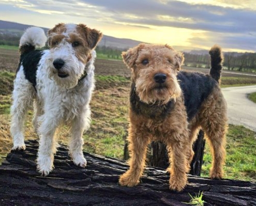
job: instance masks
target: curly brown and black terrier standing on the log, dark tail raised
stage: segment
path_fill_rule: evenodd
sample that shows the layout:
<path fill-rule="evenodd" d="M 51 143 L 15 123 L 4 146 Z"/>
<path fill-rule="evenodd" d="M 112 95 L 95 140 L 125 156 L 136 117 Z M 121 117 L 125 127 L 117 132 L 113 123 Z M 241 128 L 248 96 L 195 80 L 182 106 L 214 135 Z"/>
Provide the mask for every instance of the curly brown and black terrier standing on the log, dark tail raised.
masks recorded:
<path fill-rule="evenodd" d="M 167 144 L 170 189 L 182 191 L 187 183 L 192 144 L 201 128 L 213 155 L 210 178 L 221 179 L 225 160 L 227 104 L 219 82 L 223 56 L 210 49 L 210 75 L 180 71 L 183 54 L 168 45 L 139 44 L 122 53 L 131 69 L 129 108 L 129 170 L 119 183 L 139 183 L 151 141 Z"/>

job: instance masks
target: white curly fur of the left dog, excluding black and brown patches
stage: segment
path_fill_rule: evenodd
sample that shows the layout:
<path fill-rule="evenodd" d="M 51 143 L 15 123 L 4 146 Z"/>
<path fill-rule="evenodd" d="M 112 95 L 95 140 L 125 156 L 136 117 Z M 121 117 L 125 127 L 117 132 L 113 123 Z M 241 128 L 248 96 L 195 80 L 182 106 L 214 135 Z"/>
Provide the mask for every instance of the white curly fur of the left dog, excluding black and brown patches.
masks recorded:
<path fill-rule="evenodd" d="M 21 38 L 21 46 L 27 43 L 42 46 L 42 42 L 46 42 L 42 31 L 35 27 L 27 29 Z M 63 43 L 58 49 L 44 50 L 37 68 L 36 90 L 25 78 L 22 64 L 14 80 L 11 107 L 12 149 L 25 149 L 25 117 L 29 107 L 34 104 L 33 125 L 40 137 L 37 168 L 42 175 L 48 175 L 54 167 L 54 153 L 57 147 L 55 132 L 61 124 L 71 127 L 69 149 L 74 164 L 86 166 L 82 152 L 82 134 L 91 122 L 89 101 L 95 88 L 95 50 L 92 50 L 91 55 L 92 58 L 85 65 L 76 57 L 69 43 Z M 52 74 L 52 63 L 59 57 L 64 59 L 67 65 L 67 78 L 58 78 L 56 74 Z M 84 70 L 87 76 L 78 81 Z"/>

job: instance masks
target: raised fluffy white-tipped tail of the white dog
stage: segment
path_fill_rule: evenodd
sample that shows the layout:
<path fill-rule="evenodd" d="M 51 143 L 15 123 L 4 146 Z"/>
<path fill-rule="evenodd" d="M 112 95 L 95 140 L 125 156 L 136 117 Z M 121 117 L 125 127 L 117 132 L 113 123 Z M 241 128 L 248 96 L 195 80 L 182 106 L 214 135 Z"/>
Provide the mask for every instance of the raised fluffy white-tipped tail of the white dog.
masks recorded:
<path fill-rule="evenodd" d="M 36 47 L 43 47 L 46 45 L 47 37 L 44 30 L 39 27 L 29 27 L 23 33 L 20 39 L 19 50 L 21 55 L 35 50 Z"/>

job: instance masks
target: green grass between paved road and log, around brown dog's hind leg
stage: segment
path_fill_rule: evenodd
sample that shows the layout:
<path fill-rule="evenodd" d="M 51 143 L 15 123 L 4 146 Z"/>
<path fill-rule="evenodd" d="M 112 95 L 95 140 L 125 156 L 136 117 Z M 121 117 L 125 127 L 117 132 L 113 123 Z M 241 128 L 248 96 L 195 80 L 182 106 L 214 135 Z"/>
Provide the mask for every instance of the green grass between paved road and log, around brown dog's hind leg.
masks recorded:
<path fill-rule="evenodd" d="M 225 177 L 256 181 L 256 132 L 243 126 L 229 125 Z M 208 177 L 212 156 L 208 144 L 205 147 L 201 176 Z"/>

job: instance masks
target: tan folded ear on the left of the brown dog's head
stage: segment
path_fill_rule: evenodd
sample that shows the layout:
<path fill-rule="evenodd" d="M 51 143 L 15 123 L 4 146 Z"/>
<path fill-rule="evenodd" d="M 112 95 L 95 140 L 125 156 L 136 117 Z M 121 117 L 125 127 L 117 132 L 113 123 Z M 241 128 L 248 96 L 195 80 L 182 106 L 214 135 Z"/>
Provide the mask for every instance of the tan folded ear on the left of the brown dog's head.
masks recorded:
<path fill-rule="evenodd" d="M 145 46 L 145 44 L 139 44 L 133 48 L 127 50 L 127 52 L 122 52 L 122 58 L 124 63 L 128 66 L 128 68 L 132 68 L 136 59 L 138 58 L 140 50 Z"/>

